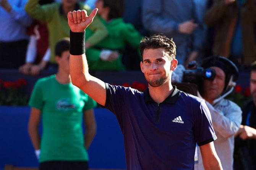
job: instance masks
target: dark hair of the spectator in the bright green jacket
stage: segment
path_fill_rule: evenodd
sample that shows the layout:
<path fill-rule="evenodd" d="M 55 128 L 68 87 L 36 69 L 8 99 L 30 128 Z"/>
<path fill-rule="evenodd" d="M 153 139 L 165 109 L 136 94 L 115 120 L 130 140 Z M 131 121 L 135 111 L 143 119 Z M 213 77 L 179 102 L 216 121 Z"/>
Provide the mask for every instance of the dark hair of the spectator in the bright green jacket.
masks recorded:
<path fill-rule="evenodd" d="M 109 7 L 109 19 L 123 16 L 124 0 L 103 0 L 104 7 Z"/>

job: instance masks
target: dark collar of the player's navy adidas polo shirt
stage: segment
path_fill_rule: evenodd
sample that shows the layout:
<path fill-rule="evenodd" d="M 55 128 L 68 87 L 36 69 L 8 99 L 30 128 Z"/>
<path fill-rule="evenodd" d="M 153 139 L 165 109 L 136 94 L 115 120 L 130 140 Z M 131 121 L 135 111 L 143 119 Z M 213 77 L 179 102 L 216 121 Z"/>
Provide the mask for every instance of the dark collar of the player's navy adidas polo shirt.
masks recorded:
<path fill-rule="evenodd" d="M 177 87 L 174 85 L 172 87 L 174 88 L 174 90 L 162 103 L 174 104 L 178 100 L 178 97 L 180 96 L 180 90 L 178 90 Z M 144 92 L 144 100 L 145 100 L 145 103 L 155 102 L 149 95 L 149 88 L 147 88 Z"/>

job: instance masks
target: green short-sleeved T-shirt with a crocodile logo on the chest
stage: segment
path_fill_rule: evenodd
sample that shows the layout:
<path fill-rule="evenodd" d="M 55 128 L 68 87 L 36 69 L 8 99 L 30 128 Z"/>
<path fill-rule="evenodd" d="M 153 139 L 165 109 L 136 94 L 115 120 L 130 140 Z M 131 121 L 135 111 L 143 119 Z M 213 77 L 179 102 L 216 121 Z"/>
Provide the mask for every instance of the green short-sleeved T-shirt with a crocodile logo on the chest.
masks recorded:
<path fill-rule="evenodd" d="M 61 84 L 51 75 L 37 81 L 29 106 L 41 110 L 42 114 L 39 162 L 88 160 L 83 111 L 96 107 L 94 100 L 72 83 Z"/>

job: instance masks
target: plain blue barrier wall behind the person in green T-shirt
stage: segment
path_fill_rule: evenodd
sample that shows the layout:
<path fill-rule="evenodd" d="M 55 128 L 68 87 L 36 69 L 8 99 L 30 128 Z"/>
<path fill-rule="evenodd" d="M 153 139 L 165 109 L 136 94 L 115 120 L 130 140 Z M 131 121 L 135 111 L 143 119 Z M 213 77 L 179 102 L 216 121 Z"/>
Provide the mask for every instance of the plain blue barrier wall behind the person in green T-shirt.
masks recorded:
<path fill-rule="evenodd" d="M 5 164 L 38 166 L 27 131 L 29 112 L 30 107 L 0 106 L 0 170 Z M 123 135 L 115 115 L 96 108 L 95 117 L 97 134 L 88 150 L 89 167 L 125 169 Z"/>

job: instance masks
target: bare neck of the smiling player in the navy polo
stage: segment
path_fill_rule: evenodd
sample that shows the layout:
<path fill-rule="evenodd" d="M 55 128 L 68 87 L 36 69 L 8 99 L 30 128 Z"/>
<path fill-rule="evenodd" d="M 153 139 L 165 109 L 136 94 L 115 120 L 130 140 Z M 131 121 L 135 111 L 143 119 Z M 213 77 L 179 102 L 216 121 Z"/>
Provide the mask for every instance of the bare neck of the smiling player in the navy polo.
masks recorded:
<path fill-rule="evenodd" d="M 174 90 L 171 82 L 166 82 L 159 87 L 149 85 L 149 95 L 156 103 L 162 103 Z"/>

